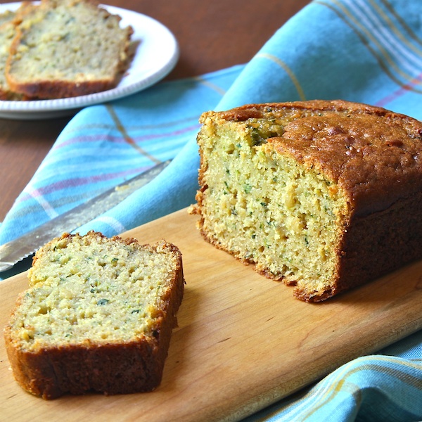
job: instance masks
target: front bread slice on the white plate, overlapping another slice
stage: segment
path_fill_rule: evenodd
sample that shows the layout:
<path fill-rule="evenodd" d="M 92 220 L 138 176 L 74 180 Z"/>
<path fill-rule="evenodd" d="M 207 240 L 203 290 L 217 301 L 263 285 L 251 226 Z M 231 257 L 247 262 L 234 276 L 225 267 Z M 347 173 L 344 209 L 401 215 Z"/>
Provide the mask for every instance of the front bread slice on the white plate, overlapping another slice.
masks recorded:
<path fill-rule="evenodd" d="M 7 82 L 27 99 L 111 89 L 127 68 L 132 32 L 94 0 L 41 0 L 20 16 Z"/>

